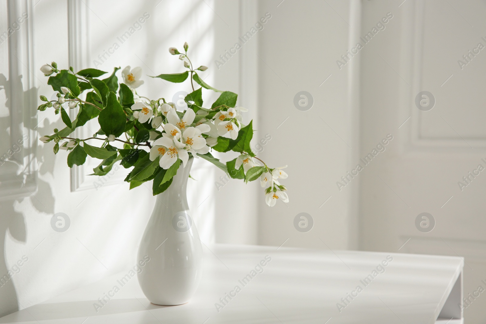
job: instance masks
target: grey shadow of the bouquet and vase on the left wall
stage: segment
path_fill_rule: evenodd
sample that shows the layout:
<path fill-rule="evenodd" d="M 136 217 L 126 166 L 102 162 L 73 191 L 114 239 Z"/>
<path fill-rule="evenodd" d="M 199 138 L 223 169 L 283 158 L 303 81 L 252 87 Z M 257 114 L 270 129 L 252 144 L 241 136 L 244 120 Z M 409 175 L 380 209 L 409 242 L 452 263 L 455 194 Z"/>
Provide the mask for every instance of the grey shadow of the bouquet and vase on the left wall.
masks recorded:
<path fill-rule="evenodd" d="M 13 127 L 18 127 L 19 132 L 17 134 L 26 134 L 32 133 L 35 134 L 35 138 L 31 139 L 30 141 L 25 141 L 23 145 L 16 146 L 12 145 L 6 152 L 1 153 L 1 163 L 0 163 L 0 183 L 5 179 L 17 179 L 19 182 L 19 186 L 24 187 L 28 190 L 27 195 L 25 197 L 18 197 L 12 199 L 5 199 L 0 202 L 0 317 L 5 316 L 9 313 L 15 312 L 19 309 L 20 303 L 18 302 L 17 297 L 17 290 L 15 288 L 15 274 L 19 271 L 19 268 L 16 264 L 12 263 L 11 265 L 7 264 L 7 255 L 6 255 L 6 240 L 7 240 L 7 232 L 9 233 L 9 239 L 13 239 L 18 243 L 25 243 L 27 241 L 27 227 L 26 227 L 26 218 L 23 212 L 19 212 L 16 210 L 18 205 L 25 205 L 25 200 L 30 200 L 32 208 L 34 208 L 39 213 L 52 213 L 53 206 L 54 206 L 54 197 L 52 196 L 52 190 L 48 183 L 44 181 L 40 181 L 36 179 L 37 183 L 37 191 L 42 191 L 44 197 L 48 197 L 48 199 L 43 200 L 43 202 L 38 201 L 32 191 L 32 189 L 28 189 L 23 181 L 25 180 L 26 175 L 24 174 L 26 171 L 26 166 L 23 165 L 23 161 L 31 161 L 31 163 L 35 162 L 35 146 L 27 147 L 28 142 L 34 142 L 37 140 L 37 136 L 35 133 L 36 124 L 37 124 L 37 117 L 36 117 L 36 107 L 31 107 L 31 109 L 23 109 L 24 113 L 24 122 L 23 128 L 22 125 L 13 125 L 12 124 L 12 117 L 15 113 L 17 113 L 18 109 L 22 109 L 19 107 L 19 104 L 16 104 L 16 100 L 12 98 L 12 96 L 18 96 L 15 93 L 14 89 L 22 89 L 22 76 L 18 76 L 15 78 L 15 81 L 10 81 L 6 78 L 4 74 L 0 73 L 0 92 L 3 91 L 4 96 L 6 98 L 4 106 L 8 109 L 9 115 L 0 118 L 0 125 L 8 125 L 7 127 L 2 127 L 0 129 L 0 138 L 3 141 L 7 141 L 10 138 L 10 134 L 12 132 Z M 13 83 L 16 82 L 16 85 Z M 22 96 L 22 95 L 20 95 Z M 27 91 L 23 91 L 23 102 L 31 102 L 28 98 L 36 98 L 37 97 L 37 89 L 32 88 Z M 35 126 L 32 126 L 35 125 Z M 34 135 L 32 135 L 34 136 Z M 28 138 L 28 137 L 27 137 Z M 25 139 L 25 137 L 24 137 Z M 4 143 L 3 143 L 4 144 Z M 10 145 L 10 143 L 8 144 Z M 5 145 L 2 145 L 5 146 Z M 18 150 L 18 151 L 17 151 Z M 22 151 L 24 154 L 28 155 L 28 158 L 17 158 L 19 154 L 18 152 Z M 52 155 L 52 154 L 51 154 Z M 53 155 L 47 155 L 50 159 L 52 159 L 52 163 L 42 163 L 43 168 L 45 167 L 50 168 L 50 170 L 43 170 L 43 173 L 53 171 Z M 43 157 L 43 156 L 42 156 Z M 41 158 L 42 158 L 41 157 Z M 42 161 L 39 161 L 42 162 Z M 13 178 L 12 176 L 15 176 Z M 26 190 L 26 191 L 27 191 Z M 6 192 L 8 195 L 8 192 Z M 17 256 L 15 256 L 15 261 L 17 260 Z"/>

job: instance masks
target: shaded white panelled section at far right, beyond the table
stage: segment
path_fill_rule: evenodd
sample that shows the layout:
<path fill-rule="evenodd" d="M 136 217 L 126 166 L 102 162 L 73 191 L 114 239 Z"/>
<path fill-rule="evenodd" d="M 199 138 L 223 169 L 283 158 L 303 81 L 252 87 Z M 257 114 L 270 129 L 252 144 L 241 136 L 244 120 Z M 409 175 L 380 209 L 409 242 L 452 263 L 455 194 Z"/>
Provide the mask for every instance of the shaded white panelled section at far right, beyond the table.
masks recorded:
<path fill-rule="evenodd" d="M 400 3 L 363 1 L 363 34 L 388 12 L 394 17 L 362 53 L 361 156 L 387 134 L 394 139 L 361 178 L 360 248 L 464 256 L 467 296 L 485 288 L 486 182 L 480 174 L 462 191 L 458 182 L 485 166 L 486 61 L 482 51 L 463 69 L 458 60 L 479 42 L 486 45 L 486 7 L 484 1 Z M 423 90 L 435 97 L 430 111 L 415 105 Z M 415 225 L 422 212 L 435 219 L 428 233 Z M 485 303 L 476 298 L 465 323 L 484 323 Z"/>

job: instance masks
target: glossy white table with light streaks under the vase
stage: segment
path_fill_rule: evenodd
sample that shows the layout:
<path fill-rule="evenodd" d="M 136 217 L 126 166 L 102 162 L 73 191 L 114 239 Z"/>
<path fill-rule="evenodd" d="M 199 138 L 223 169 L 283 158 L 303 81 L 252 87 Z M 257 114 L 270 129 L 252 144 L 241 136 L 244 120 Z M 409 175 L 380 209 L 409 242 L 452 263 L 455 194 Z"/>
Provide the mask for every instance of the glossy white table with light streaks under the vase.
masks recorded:
<path fill-rule="evenodd" d="M 121 287 L 117 280 L 127 270 L 2 317 L 0 323 L 463 323 L 458 303 L 464 261 L 459 257 L 222 244 L 203 249 L 203 279 L 185 305 L 150 304 L 136 276 Z M 263 272 L 257 268 L 261 273 L 243 285 L 239 280 L 251 276 L 265 256 L 271 261 L 262 262 Z M 393 260 L 383 262 L 384 272 L 373 273 L 387 256 Z M 370 282 L 364 282 L 368 275 Z M 101 305 L 98 298 L 115 285 L 120 291 L 96 312 L 93 304 Z M 236 296 L 230 300 L 226 293 Z M 215 303 L 222 306 L 219 312 Z"/>

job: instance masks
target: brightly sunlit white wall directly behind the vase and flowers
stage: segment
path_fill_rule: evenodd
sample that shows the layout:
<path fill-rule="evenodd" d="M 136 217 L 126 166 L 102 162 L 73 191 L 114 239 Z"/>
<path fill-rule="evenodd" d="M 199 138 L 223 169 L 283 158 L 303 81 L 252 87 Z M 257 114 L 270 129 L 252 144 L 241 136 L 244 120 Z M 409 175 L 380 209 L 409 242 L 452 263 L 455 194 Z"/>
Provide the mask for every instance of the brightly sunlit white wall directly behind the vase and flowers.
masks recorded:
<path fill-rule="evenodd" d="M 34 24 L 32 53 L 35 59 L 31 70 L 38 94 L 50 97 L 52 93 L 52 88 L 47 86 L 47 78 L 39 71 L 41 65 L 55 61 L 60 68 L 67 68 L 70 57 L 71 63 L 79 65 L 76 69 L 88 64 L 93 66 L 93 60 L 147 12 L 150 18 L 142 29 L 98 68 L 111 71 L 115 66 L 140 66 L 144 71 L 145 85 L 138 89 L 139 93 L 148 97 L 164 96 L 172 101 L 178 90 L 191 92 L 190 85 L 169 85 L 168 82 L 164 85 L 160 79 L 145 75 L 181 70 L 182 62 L 170 55 L 168 48 L 182 48 L 187 41 L 193 62 L 209 67 L 206 72 L 200 73 L 207 77 L 205 81 L 208 84 L 236 93 L 244 90 L 247 94 L 240 100 L 254 105 L 256 97 L 251 91 L 256 83 L 252 81 L 252 74 L 241 66 L 244 53 L 252 49 L 251 45 L 220 69 L 214 64 L 214 59 L 237 40 L 240 21 L 254 20 L 248 18 L 254 13 L 252 7 L 241 5 L 238 1 L 157 2 L 134 4 L 133 1 L 116 1 L 113 6 L 111 1 L 71 1 L 76 10 L 70 12 L 70 17 L 78 19 L 75 25 L 81 29 L 81 34 L 78 33 L 74 39 L 77 46 L 75 55 L 72 52 L 69 55 L 69 34 L 76 33 L 69 27 L 68 1 L 31 3 L 33 14 L 30 21 Z M 215 12 L 224 17 L 224 21 Z M 87 22 L 85 34 L 84 21 Z M 71 47 L 72 41 L 71 38 Z M 245 72 L 241 73 L 242 70 Z M 203 91 L 203 98 L 212 102 L 216 95 Z M 35 102 L 31 107 L 33 116 L 37 104 Z M 257 116 L 256 107 L 248 108 L 251 109 L 249 117 Z M 50 134 L 54 127 L 63 127 L 59 116 L 49 109 L 39 114 L 38 121 L 40 135 Z M 0 224 L 2 233 L 5 233 L 0 239 L 1 257 L 5 260 L 0 263 L 0 274 L 6 274 L 22 256 L 28 257 L 20 273 L 0 287 L 0 316 L 96 281 L 135 263 L 139 239 L 155 201 L 151 185 L 128 191 L 128 185 L 120 181 L 126 175 L 123 168 L 96 190 L 92 182 L 98 179 L 86 175 L 90 173 L 89 168 L 78 169 L 71 174 L 66 153 L 61 151 L 54 156 L 52 144 L 38 143 L 36 157 L 37 190 L 26 198 L 0 202 Z M 226 156 L 226 159 L 230 158 Z M 190 180 L 188 191 L 192 215 L 203 241 L 256 243 L 256 205 L 247 202 L 254 201 L 255 189 L 260 188 L 245 186 L 235 180 L 217 191 L 215 181 L 224 175 L 223 172 L 206 161 L 197 162 L 191 171 L 197 181 Z M 71 192 L 74 180 L 73 187 L 77 189 Z M 71 220 L 69 230 L 64 233 L 57 233 L 51 228 L 52 215 L 57 212 L 66 213 Z"/>

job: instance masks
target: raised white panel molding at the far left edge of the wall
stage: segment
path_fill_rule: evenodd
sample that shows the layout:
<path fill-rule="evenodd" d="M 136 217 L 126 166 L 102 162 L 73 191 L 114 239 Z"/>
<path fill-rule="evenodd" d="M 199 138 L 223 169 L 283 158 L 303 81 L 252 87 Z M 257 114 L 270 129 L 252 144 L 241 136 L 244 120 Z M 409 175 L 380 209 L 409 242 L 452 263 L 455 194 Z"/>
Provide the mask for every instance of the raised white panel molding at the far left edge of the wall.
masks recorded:
<path fill-rule="evenodd" d="M 10 115 L 10 149 L 1 154 L 0 199 L 32 195 L 37 189 L 37 89 L 33 55 L 31 0 L 8 0 L 7 24 L 27 14 L 20 28 L 8 36 L 8 76 L 4 86 Z M 3 32 L 3 31 L 2 31 Z M 21 144 L 20 144 L 21 143 Z M 16 151 L 19 148 L 19 151 Z M 5 162 L 3 162 L 5 161 Z"/>

